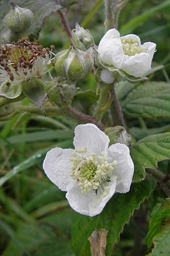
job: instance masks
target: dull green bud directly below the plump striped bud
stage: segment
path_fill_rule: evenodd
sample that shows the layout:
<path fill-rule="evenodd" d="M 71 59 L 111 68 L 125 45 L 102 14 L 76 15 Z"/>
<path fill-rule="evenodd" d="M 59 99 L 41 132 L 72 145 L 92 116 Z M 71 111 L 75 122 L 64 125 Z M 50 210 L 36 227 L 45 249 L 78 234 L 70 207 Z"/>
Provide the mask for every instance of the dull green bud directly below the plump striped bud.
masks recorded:
<path fill-rule="evenodd" d="M 76 86 L 73 82 L 55 77 L 46 85 L 46 92 L 54 104 L 68 106 L 76 93 Z"/>

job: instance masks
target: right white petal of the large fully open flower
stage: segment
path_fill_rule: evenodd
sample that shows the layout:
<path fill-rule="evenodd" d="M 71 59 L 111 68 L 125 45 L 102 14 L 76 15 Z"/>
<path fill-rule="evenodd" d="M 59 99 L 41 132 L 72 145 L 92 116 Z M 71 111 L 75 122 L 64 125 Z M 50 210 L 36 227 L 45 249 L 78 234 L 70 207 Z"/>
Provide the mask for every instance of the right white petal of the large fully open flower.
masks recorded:
<path fill-rule="evenodd" d="M 128 192 L 134 173 L 134 164 L 130 156 L 129 147 L 121 143 L 112 144 L 108 148 L 108 158 L 110 161 L 117 161 L 114 167 L 114 175 L 117 176 L 116 192 Z"/>

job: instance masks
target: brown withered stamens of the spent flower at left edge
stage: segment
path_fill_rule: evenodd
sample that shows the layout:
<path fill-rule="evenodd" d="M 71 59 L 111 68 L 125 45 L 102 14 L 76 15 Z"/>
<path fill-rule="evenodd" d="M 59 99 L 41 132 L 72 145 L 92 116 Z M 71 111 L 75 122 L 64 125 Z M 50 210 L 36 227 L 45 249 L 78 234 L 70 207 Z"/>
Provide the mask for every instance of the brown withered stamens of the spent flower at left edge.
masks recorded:
<path fill-rule="evenodd" d="M 18 42 L 4 44 L 0 47 L 0 80 L 3 81 L 3 75 L 5 78 L 8 76 L 7 85 L 10 85 L 10 81 L 14 81 L 15 76 L 20 75 L 20 71 L 22 71 L 22 75 L 27 76 L 37 60 L 49 59 L 49 55 L 49 48 L 43 48 L 39 42 L 30 42 L 29 39 L 20 39 Z M 42 75 L 39 71 L 36 75 L 41 79 Z"/>

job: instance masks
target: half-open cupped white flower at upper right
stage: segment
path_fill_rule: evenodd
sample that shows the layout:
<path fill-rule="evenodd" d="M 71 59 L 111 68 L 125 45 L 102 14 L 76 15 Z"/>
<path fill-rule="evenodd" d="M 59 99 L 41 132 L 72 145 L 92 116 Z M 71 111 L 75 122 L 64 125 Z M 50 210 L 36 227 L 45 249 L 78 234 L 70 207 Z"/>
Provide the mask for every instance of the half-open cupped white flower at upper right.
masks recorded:
<path fill-rule="evenodd" d="M 99 43 L 101 63 L 121 69 L 134 77 L 142 77 L 150 71 L 156 44 L 141 44 L 137 35 L 120 36 L 115 29 L 108 30 Z"/>

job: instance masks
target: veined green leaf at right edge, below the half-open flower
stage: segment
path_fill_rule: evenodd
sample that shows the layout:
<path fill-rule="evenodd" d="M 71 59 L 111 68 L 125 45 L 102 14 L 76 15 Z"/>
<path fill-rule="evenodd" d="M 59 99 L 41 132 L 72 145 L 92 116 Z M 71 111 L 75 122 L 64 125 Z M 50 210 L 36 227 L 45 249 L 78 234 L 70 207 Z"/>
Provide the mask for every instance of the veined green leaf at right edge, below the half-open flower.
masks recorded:
<path fill-rule="evenodd" d="M 118 97 L 127 117 L 170 117 L 170 85 L 167 82 L 122 83 Z"/>

